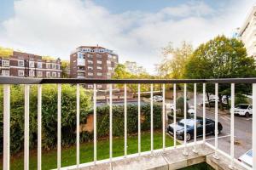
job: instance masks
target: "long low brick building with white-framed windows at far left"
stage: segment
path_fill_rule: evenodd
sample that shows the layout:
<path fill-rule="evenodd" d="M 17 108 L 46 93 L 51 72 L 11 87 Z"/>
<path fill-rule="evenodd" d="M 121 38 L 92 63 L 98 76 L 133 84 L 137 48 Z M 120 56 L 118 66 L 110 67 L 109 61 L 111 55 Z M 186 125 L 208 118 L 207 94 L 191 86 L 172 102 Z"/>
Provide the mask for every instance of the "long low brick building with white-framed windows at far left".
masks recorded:
<path fill-rule="evenodd" d="M 44 59 L 35 54 L 14 51 L 9 57 L 0 56 L 1 76 L 61 77 L 61 59 Z"/>

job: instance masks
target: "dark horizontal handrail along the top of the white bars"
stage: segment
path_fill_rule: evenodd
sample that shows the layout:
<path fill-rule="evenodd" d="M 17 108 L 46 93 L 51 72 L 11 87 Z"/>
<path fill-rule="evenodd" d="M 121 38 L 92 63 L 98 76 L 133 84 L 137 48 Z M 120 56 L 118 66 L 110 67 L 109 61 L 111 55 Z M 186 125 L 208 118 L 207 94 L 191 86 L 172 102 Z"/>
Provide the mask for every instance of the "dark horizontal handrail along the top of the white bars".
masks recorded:
<path fill-rule="evenodd" d="M 94 79 L 94 78 L 31 78 L 0 77 L 0 84 L 157 84 L 157 83 L 256 83 L 256 77 L 219 79 Z"/>

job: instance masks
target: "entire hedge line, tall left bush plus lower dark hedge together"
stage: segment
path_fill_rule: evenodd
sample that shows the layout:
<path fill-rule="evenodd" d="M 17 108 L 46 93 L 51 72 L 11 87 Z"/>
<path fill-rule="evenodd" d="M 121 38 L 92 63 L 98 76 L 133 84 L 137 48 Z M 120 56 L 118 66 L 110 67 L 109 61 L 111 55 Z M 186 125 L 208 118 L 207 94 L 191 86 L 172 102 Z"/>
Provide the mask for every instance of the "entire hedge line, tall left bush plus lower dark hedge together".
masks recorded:
<path fill-rule="evenodd" d="M 0 153 L 3 154 L 3 87 L 0 87 Z M 30 148 L 38 143 L 38 93 L 31 86 L 30 93 Z M 80 88 L 80 124 L 85 124 L 91 110 L 91 94 Z M 23 150 L 24 145 L 24 86 L 11 87 L 10 150 Z M 142 105 L 142 130 L 150 129 L 150 105 Z M 161 127 L 161 106 L 154 105 L 154 128 Z M 128 133 L 137 133 L 137 105 L 127 105 Z M 109 107 L 97 107 L 97 137 L 109 134 Z M 124 107 L 113 106 L 113 136 L 124 135 Z M 93 133 L 80 133 L 80 142 L 93 139 Z M 61 145 L 76 143 L 76 87 L 62 85 L 61 90 Z M 55 148 L 57 144 L 57 87 L 44 85 L 42 93 L 42 147 Z"/>

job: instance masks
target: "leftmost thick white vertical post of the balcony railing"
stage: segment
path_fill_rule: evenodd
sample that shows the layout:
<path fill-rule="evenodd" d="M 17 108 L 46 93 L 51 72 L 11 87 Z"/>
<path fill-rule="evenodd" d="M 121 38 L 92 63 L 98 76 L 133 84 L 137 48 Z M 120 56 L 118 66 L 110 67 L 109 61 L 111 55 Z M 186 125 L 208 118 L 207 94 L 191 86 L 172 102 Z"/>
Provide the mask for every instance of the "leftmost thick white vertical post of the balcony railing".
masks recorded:
<path fill-rule="evenodd" d="M 3 169 L 9 170 L 10 85 L 3 85 Z"/>

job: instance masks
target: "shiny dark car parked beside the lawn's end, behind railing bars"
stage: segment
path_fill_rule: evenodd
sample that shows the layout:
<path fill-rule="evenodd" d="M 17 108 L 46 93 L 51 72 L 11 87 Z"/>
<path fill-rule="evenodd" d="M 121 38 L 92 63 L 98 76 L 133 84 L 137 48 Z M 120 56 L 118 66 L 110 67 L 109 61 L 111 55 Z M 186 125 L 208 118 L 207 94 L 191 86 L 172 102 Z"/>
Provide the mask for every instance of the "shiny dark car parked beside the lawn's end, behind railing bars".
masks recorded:
<path fill-rule="evenodd" d="M 183 140 L 184 138 L 184 119 L 180 120 L 176 124 L 172 123 L 167 127 L 167 133 L 173 136 L 173 129 L 176 127 L 176 137 L 177 139 Z M 194 138 L 194 122 L 195 119 L 189 118 L 186 120 L 187 124 L 187 141 Z M 203 119 L 202 117 L 198 116 L 196 119 L 196 136 L 200 137 L 203 135 Z M 220 122 L 218 122 L 218 134 L 222 131 L 223 127 Z M 206 135 L 214 134 L 215 130 L 215 122 L 211 119 L 206 119 Z"/>

